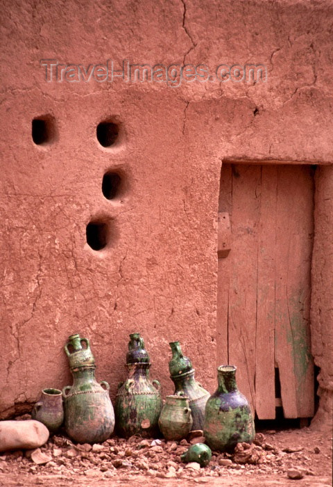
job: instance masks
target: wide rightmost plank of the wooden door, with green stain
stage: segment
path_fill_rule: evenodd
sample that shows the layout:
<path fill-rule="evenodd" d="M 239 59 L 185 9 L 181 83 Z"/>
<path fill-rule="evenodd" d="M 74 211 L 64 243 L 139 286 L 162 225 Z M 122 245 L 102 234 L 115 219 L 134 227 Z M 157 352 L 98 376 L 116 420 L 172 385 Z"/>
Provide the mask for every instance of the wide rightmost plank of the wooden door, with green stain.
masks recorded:
<path fill-rule="evenodd" d="M 311 168 L 278 168 L 275 273 L 275 358 L 285 417 L 313 414 L 309 344 L 313 238 Z"/>

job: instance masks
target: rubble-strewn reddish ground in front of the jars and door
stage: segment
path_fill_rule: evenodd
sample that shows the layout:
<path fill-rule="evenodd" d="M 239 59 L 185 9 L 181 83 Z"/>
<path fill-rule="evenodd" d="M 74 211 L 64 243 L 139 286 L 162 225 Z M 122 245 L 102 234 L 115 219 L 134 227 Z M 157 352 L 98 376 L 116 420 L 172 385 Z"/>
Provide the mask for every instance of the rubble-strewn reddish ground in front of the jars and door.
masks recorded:
<path fill-rule="evenodd" d="M 332 485 L 331 431 L 261 431 L 254 445 L 239 444 L 232 455 L 213 452 L 205 468 L 180 460 L 191 443 L 203 439 L 197 435 L 180 442 L 133 436 L 76 445 L 58 434 L 40 449 L 0 454 L 0 486 Z"/>

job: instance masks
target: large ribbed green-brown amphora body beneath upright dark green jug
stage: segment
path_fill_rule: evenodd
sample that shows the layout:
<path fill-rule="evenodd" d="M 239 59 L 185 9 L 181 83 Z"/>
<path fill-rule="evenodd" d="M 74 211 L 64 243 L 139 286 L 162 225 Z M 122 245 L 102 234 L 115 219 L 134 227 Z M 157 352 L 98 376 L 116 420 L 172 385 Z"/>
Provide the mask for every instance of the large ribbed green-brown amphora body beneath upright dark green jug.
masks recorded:
<path fill-rule="evenodd" d="M 128 378 L 119 385 L 114 408 L 117 433 L 123 438 L 135 434 L 156 438 L 162 409 L 160 383 L 149 378 L 151 363 L 128 363 L 126 367 Z"/>

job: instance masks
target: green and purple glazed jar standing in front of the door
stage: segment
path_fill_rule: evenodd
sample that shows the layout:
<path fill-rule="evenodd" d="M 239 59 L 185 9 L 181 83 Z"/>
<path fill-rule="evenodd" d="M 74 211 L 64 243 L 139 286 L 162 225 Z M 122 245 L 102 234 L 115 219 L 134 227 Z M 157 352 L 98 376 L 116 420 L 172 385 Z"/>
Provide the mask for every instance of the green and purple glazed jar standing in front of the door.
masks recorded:
<path fill-rule="evenodd" d="M 232 452 L 237 443 L 252 443 L 255 425 L 246 397 L 236 383 L 236 367 L 217 367 L 218 388 L 208 399 L 203 434 L 210 448 Z"/>

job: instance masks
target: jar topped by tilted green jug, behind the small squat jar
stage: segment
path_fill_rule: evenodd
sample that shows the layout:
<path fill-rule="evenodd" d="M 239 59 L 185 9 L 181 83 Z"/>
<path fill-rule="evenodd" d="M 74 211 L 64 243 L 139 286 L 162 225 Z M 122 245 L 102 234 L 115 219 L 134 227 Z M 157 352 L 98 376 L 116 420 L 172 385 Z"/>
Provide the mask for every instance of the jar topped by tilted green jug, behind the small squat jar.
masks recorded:
<path fill-rule="evenodd" d="M 192 368 L 191 360 L 183 356 L 179 342 L 172 342 L 170 346 L 172 358 L 169 362 L 169 371 L 175 385 L 174 394 L 184 395 L 189 399 L 193 420 L 191 429 L 203 429 L 205 406 L 210 393 L 194 378 L 195 370 Z"/>

